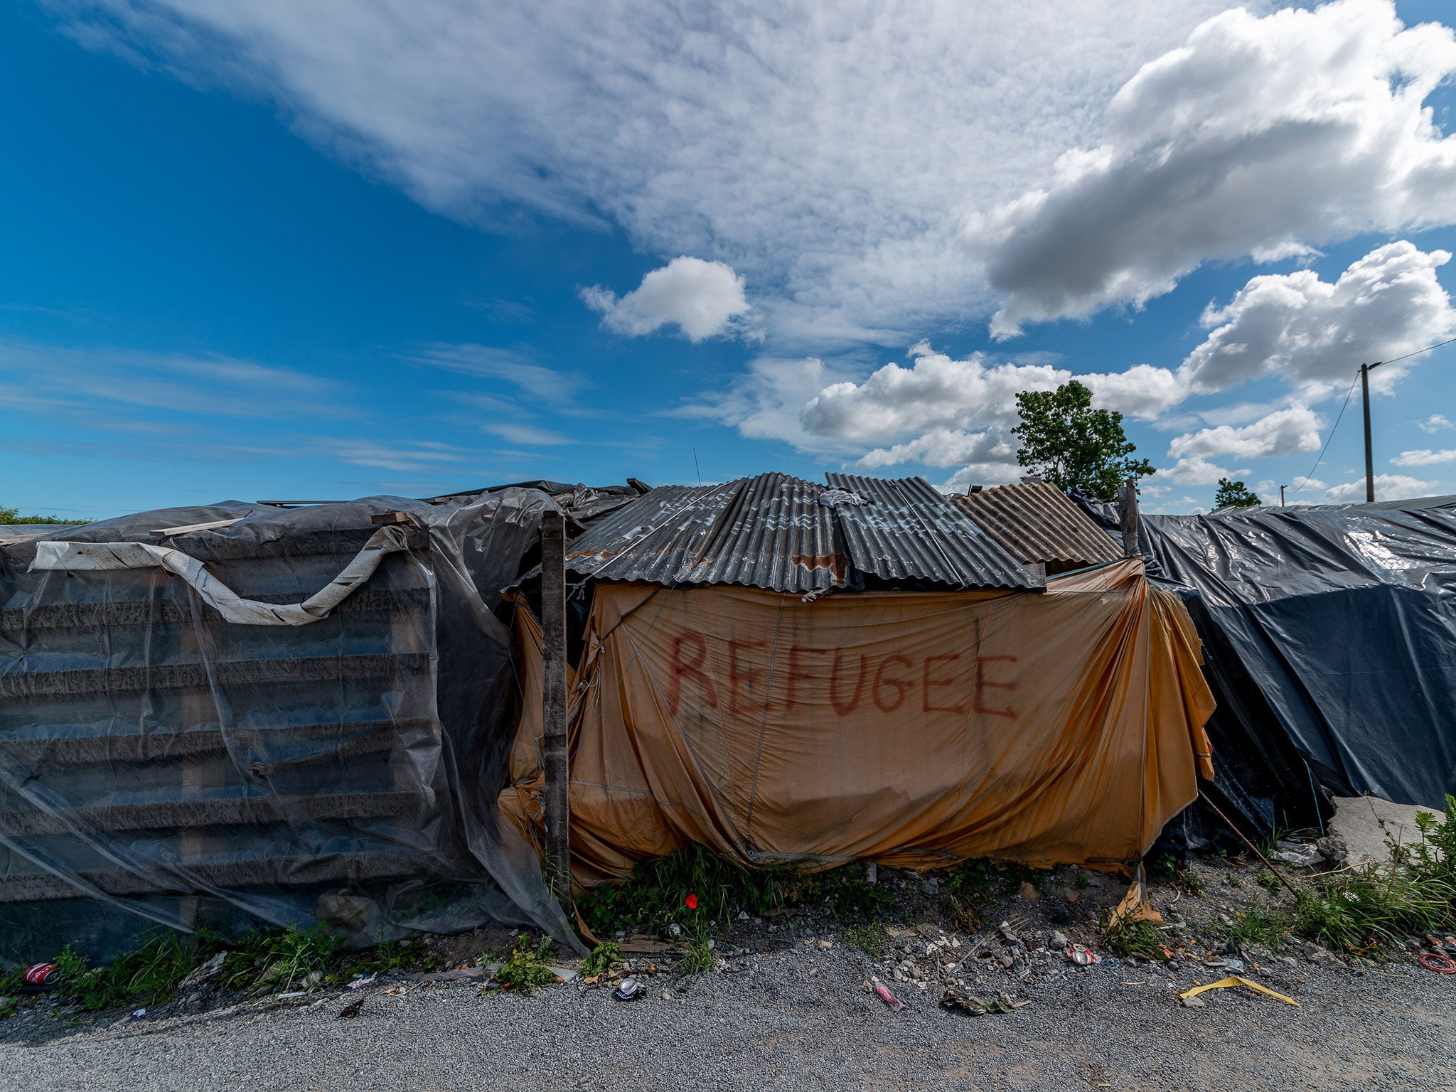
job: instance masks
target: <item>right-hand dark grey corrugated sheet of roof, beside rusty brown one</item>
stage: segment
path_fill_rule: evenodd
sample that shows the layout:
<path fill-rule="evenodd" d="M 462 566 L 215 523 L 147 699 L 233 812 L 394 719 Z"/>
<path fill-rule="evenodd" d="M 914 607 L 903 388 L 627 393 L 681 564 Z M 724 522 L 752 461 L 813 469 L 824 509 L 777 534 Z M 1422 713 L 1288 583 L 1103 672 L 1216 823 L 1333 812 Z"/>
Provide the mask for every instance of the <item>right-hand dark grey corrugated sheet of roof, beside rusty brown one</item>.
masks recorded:
<path fill-rule="evenodd" d="M 1044 581 L 994 539 L 983 534 L 923 478 L 824 475 L 865 505 L 837 508 L 855 566 L 890 581 L 929 581 L 952 588 L 1040 588 Z"/>

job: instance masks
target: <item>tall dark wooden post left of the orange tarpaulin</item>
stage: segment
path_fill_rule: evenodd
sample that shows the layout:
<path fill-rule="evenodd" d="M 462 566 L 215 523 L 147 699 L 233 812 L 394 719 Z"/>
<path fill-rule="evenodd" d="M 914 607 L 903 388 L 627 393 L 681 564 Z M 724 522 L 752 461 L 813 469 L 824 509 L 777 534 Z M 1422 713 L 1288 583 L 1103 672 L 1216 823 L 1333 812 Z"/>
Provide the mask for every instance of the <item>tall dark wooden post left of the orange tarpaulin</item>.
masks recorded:
<path fill-rule="evenodd" d="M 546 882 L 571 901 L 571 794 L 566 757 L 566 521 L 542 515 L 542 763 L 546 773 Z"/>

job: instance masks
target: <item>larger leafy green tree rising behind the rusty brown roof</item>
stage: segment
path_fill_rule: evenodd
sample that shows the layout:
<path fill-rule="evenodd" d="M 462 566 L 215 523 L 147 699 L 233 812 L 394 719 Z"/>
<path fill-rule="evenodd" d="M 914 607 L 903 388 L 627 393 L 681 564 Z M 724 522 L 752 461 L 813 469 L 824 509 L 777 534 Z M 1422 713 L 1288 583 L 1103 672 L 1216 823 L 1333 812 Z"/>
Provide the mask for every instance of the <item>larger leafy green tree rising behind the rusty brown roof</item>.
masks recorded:
<path fill-rule="evenodd" d="M 1156 473 L 1123 431 L 1123 415 L 1092 409 L 1092 392 L 1075 379 L 1056 390 L 1016 395 L 1021 437 L 1016 462 L 1063 492 L 1082 489 L 1099 501 L 1117 499 L 1124 478 Z"/>

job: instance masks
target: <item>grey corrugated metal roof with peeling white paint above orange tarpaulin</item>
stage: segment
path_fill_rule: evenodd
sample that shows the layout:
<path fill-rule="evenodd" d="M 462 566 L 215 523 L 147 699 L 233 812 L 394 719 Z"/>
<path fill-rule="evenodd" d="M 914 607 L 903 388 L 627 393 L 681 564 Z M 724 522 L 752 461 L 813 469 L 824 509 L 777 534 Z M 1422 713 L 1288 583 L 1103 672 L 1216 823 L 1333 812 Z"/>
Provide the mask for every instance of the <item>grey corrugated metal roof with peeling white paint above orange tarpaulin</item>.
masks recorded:
<path fill-rule="evenodd" d="M 952 588 L 1042 587 L 923 479 L 828 479 L 869 504 L 821 505 L 828 486 L 780 473 L 662 486 L 572 542 L 566 566 L 598 579 L 796 594 L 863 587 L 866 575 Z"/>

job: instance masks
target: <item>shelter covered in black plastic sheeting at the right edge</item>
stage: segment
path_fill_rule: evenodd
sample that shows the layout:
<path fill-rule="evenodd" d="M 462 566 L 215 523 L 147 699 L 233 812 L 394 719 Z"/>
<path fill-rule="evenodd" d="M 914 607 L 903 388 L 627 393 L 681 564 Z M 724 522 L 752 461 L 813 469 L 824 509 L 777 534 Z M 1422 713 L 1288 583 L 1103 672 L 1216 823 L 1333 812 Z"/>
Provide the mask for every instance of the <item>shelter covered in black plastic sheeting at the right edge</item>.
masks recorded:
<path fill-rule="evenodd" d="M 1316 780 L 1425 807 L 1456 792 L 1456 498 L 1140 527 L 1149 571 L 1182 590 L 1203 636 L 1210 735 L 1246 817 L 1315 826 Z"/>

